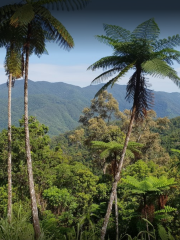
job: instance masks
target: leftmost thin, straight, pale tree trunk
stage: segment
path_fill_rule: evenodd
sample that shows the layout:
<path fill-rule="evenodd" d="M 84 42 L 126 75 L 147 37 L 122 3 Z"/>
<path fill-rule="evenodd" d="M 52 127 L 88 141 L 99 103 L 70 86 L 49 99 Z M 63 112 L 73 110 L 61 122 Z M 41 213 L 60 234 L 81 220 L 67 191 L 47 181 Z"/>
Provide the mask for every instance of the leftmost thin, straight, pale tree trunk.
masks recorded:
<path fill-rule="evenodd" d="M 12 74 L 9 74 L 8 83 L 8 222 L 11 223 L 12 218 L 12 163 L 11 163 L 11 88 L 12 88 Z"/>

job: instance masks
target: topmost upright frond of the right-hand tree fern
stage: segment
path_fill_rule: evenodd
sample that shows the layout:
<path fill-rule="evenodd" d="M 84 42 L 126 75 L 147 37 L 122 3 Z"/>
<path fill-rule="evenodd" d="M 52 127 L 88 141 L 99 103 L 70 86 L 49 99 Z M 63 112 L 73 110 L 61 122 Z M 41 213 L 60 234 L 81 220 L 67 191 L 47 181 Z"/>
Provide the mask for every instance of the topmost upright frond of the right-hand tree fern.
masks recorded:
<path fill-rule="evenodd" d="M 158 38 L 159 33 L 160 29 L 157 23 L 154 21 L 154 18 L 151 18 L 135 28 L 132 32 L 132 38 L 155 40 Z"/>

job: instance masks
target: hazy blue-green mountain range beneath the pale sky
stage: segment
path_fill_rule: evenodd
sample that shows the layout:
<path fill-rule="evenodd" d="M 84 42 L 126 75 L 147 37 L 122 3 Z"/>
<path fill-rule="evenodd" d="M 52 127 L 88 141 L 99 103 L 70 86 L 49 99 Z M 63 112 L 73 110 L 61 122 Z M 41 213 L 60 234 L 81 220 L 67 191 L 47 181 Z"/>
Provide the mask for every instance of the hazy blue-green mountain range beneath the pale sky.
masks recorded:
<path fill-rule="evenodd" d="M 33 82 L 29 80 L 29 116 L 49 127 L 51 136 L 64 133 L 79 125 L 79 116 L 84 107 L 90 106 L 90 100 L 102 84 L 88 87 L 58 82 Z M 115 85 L 108 88 L 119 102 L 121 111 L 130 109 L 132 104 L 125 100 L 126 86 Z M 24 111 L 24 84 L 17 80 L 12 89 L 12 124 L 19 126 L 19 119 Z M 6 84 L 0 85 L 0 131 L 7 128 L 7 98 Z M 173 118 L 180 116 L 180 93 L 154 92 L 154 107 L 158 117 Z"/>

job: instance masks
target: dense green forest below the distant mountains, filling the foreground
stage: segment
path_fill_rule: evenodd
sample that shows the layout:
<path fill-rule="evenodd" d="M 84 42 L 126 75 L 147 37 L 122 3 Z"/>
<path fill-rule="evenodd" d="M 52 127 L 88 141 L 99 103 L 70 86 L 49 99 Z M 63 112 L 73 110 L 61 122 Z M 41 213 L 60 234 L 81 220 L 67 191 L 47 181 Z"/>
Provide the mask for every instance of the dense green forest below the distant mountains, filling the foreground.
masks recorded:
<path fill-rule="evenodd" d="M 82 239 L 100 239 L 116 161 L 122 151 L 130 117 L 129 110 L 119 111 L 118 103 L 111 95 L 104 93 L 103 96 L 94 100 L 88 111 L 84 108 L 81 126 L 52 139 L 47 135 L 45 125 L 34 117 L 29 120 L 40 220 L 46 237 L 52 240 L 66 240 L 66 236 L 75 240 L 77 234 L 81 234 Z M 149 233 L 152 234 L 154 229 L 156 234 L 171 234 L 179 239 L 179 156 L 170 157 L 169 148 L 161 144 L 164 136 L 167 141 L 171 140 L 171 134 L 178 128 L 179 117 L 171 121 L 168 118 L 156 119 L 154 111 L 148 112 L 143 123 L 134 124 L 122 179 L 118 183 L 121 237 L 126 233 L 136 236 L 140 230 L 144 230 L 142 236 L 145 237 L 146 222 L 143 219 L 146 218 Z M 22 229 L 28 237 L 32 226 L 28 222 L 31 212 L 28 207 L 23 119 L 19 127 L 12 128 L 12 139 L 13 219 L 16 228 Z M 178 137 L 173 140 L 175 143 Z M 6 214 L 7 202 L 6 146 L 7 131 L 3 130 L 0 133 L 1 216 Z M 147 215 L 144 213 L 144 196 Z M 116 236 L 115 217 L 113 206 L 107 229 L 110 239 Z M 6 229 L 5 220 L 1 220 L 1 225 Z"/>

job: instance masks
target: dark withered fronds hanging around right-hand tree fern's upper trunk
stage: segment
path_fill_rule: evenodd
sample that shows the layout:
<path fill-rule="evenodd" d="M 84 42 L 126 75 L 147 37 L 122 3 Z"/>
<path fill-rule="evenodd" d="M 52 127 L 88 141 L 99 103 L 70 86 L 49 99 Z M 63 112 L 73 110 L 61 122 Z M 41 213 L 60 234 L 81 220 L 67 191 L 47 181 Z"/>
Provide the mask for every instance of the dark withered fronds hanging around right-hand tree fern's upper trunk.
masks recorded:
<path fill-rule="evenodd" d="M 148 89 L 145 77 L 141 75 L 140 79 L 138 79 L 136 71 L 127 84 L 126 93 L 126 99 L 129 102 L 132 101 L 133 107 L 136 108 L 135 119 L 143 119 L 146 116 L 147 110 L 153 104 L 152 91 Z"/>

